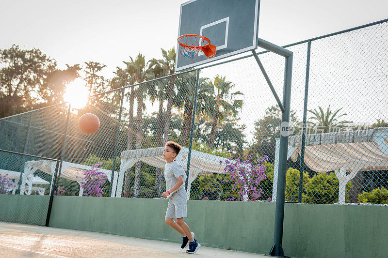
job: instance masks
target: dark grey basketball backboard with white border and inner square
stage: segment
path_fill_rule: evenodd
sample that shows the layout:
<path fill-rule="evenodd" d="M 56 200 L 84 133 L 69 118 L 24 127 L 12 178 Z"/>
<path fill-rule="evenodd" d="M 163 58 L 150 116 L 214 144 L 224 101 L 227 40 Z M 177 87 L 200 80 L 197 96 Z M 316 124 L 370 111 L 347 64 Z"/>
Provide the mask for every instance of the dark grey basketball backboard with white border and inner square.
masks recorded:
<path fill-rule="evenodd" d="M 207 58 L 199 51 L 193 63 L 179 55 L 178 45 L 175 71 L 256 49 L 259 3 L 260 0 L 191 0 L 181 4 L 178 36 L 205 36 L 216 46 L 216 54 Z"/>

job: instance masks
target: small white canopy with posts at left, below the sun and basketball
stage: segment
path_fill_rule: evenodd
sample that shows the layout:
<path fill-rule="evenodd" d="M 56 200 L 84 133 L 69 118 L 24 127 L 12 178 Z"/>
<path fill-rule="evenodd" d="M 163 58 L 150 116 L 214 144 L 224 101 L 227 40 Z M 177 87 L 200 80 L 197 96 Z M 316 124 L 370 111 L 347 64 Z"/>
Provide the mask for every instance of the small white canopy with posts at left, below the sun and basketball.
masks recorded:
<path fill-rule="evenodd" d="M 24 163 L 24 172 L 22 174 L 22 182 L 20 185 L 20 194 L 24 193 L 24 187 L 26 185 L 27 177 L 31 174 L 33 174 L 36 170 L 41 170 L 42 172 L 45 172 L 49 175 L 53 175 L 55 172 L 57 162 L 51 161 L 51 160 L 37 160 L 37 161 L 27 161 Z M 82 196 L 83 194 L 83 188 L 81 187 L 81 181 L 84 178 L 84 175 L 82 174 L 84 171 L 91 169 L 92 167 L 76 164 L 76 163 L 70 163 L 63 161 L 62 162 L 62 168 L 61 168 L 61 178 L 67 178 L 72 181 L 76 181 L 80 184 L 80 193 L 79 196 Z M 99 168 L 107 177 L 109 182 L 112 182 L 112 197 L 115 194 L 116 189 L 116 182 L 117 182 L 117 171 L 114 171 L 113 175 L 113 181 L 112 179 L 112 170 Z M 58 174 L 59 175 L 59 170 Z M 51 184 L 50 184 L 50 193 L 51 193 L 51 186 L 53 183 L 54 177 L 51 177 Z"/>

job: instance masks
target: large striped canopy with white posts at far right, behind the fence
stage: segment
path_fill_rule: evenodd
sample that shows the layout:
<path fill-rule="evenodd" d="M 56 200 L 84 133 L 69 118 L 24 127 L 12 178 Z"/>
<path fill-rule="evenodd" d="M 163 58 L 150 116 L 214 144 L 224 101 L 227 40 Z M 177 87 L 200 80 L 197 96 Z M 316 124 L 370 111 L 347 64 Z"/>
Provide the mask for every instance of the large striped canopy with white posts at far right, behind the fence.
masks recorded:
<path fill-rule="evenodd" d="M 301 153 L 302 136 L 289 137 L 287 159 Z M 276 139 L 273 200 L 276 200 L 279 169 L 279 138 Z M 346 183 L 358 171 L 388 169 L 388 127 L 369 130 L 306 135 L 305 164 L 316 172 L 335 171 L 339 203 L 345 202 Z"/>

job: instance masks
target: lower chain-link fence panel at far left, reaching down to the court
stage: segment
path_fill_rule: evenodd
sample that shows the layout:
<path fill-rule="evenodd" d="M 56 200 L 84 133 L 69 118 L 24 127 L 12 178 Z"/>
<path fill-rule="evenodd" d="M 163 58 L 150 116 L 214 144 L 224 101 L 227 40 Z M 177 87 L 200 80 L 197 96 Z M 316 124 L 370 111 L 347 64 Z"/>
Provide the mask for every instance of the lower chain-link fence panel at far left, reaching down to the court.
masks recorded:
<path fill-rule="evenodd" d="M 59 164 L 59 160 L 0 150 L 0 221 L 47 225 Z"/>

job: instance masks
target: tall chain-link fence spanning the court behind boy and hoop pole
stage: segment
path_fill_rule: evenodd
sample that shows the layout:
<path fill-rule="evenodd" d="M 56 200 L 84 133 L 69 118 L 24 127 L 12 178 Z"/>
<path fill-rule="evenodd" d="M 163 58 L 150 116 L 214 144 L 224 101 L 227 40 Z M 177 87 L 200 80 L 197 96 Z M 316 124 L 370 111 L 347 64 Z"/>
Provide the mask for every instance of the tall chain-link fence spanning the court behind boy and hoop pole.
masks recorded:
<path fill-rule="evenodd" d="M 286 201 L 388 204 L 388 20 L 285 47 L 293 52 Z M 284 59 L 258 54 L 281 96 Z M 97 133 L 80 132 L 84 113 L 99 118 Z M 157 198 L 163 146 L 176 141 L 191 199 L 276 201 L 280 121 L 247 56 L 92 96 L 84 108 L 1 119 L 0 149 L 63 161 L 58 194 Z"/>

